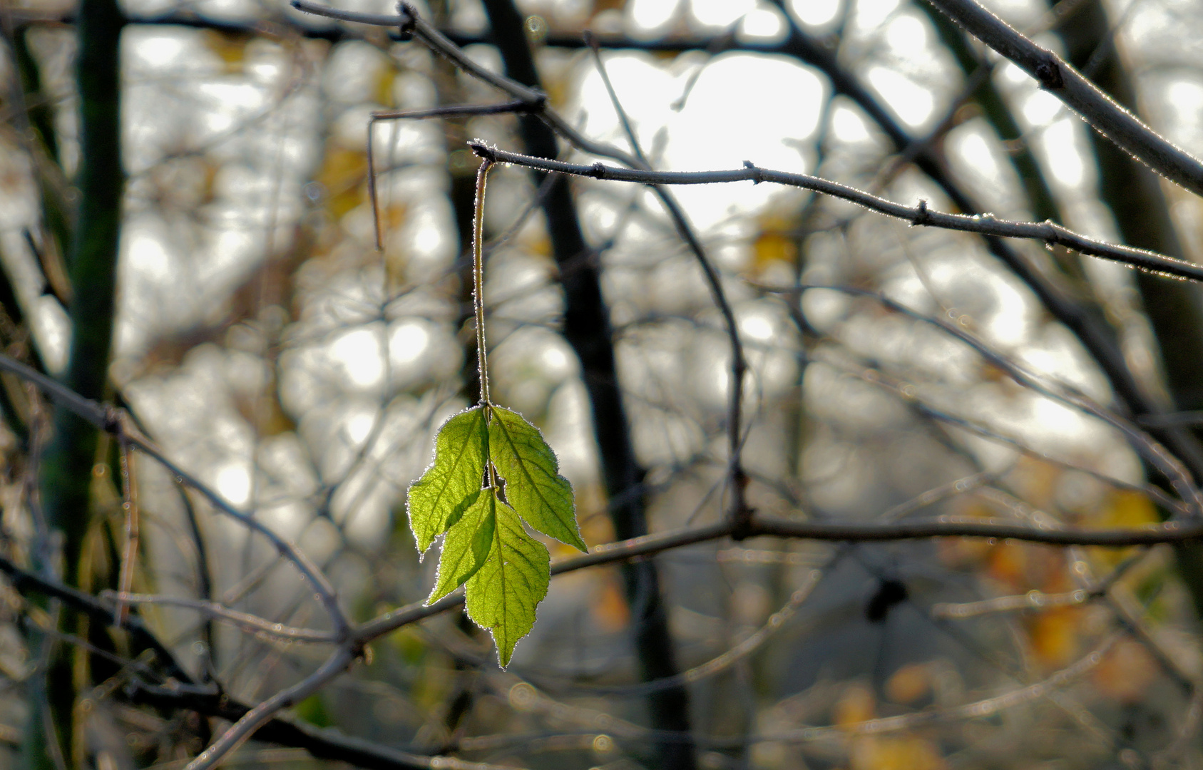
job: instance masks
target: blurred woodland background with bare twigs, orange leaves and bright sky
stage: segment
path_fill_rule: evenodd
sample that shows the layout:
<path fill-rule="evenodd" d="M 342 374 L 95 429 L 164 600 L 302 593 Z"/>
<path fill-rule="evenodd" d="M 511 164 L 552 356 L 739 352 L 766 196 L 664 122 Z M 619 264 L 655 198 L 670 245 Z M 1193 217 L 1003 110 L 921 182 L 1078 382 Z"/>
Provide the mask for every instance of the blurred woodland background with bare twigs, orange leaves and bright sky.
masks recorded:
<path fill-rule="evenodd" d="M 1197 2 L 988 5 L 1203 153 Z M 515 14 L 509 0 L 427 0 L 417 10 L 497 72 L 521 77 L 518 54 L 506 53 L 521 43 L 537 65 L 529 84 L 550 106 L 626 148 L 581 43 L 593 30 L 657 168 L 752 160 L 907 205 L 1053 218 L 1203 260 L 1197 199 L 921 1 L 527 0 Z M 378 251 L 371 113 L 504 95 L 396 30 L 280 4 L 131 0 L 120 12 L 112 66 L 126 178 L 115 303 L 100 318 L 81 309 L 105 289 L 79 278 L 89 144 L 75 69 L 99 37 L 77 35 L 85 19 L 70 4 L 0 8 L 5 351 L 76 381 L 81 330 L 107 340 L 111 324 L 111 353 L 103 342 L 91 354 L 99 390 L 84 395 L 126 408 L 166 455 L 296 541 L 354 620 L 421 602 L 434 559 L 417 558 L 404 492 L 442 420 L 478 397 L 466 255 L 476 159 L 464 142 L 525 150 L 533 134 L 521 120 L 533 119 L 373 124 Z M 594 160 L 564 143 L 559 155 Z M 568 224 L 550 203 L 557 189 L 570 189 Z M 1203 409 L 1196 285 L 908 227 L 799 190 L 741 183 L 676 195 L 746 345 L 741 442 L 754 509 L 1085 527 L 1178 515 L 1116 431 L 1017 385 L 917 315 L 1119 414 L 1189 413 Z M 569 226 L 583 237 L 575 250 Z M 721 520 L 733 493 L 731 351 L 703 272 L 653 194 L 499 167 L 485 233 L 494 401 L 556 449 L 588 544 Z M 589 280 L 600 288 L 593 310 Z M 616 375 L 605 375 L 605 355 Z M 75 561 L 64 579 L 90 593 L 119 587 L 128 492 L 115 442 L 93 439 L 71 475 L 82 497 L 59 500 L 43 466 L 66 462 L 55 444 L 65 428 L 29 385 L 0 380 L 0 555 L 41 569 L 40 533 L 65 521 Z M 620 409 L 598 414 L 606 386 Z M 1190 419 L 1146 425 L 1167 431 L 1158 438 L 1203 478 L 1197 438 L 1180 427 Z M 134 482 L 134 591 L 325 627 L 266 541 L 149 460 Z M 528 768 L 1198 766 L 1199 575 L 1187 547 L 722 540 L 556 578 L 505 671 L 458 611 L 407 626 L 288 718 L 419 758 Z M 140 682 L 165 675 L 129 633 L 55 620 L 53 604 L 17 584 L 0 596 L 0 765 L 183 768 L 227 724 L 148 699 Z M 138 614 L 195 681 L 244 703 L 324 654 L 194 609 Z M 29 742 L 43 739 L 41 756 Z M 231 759 L 239 764 L 339 765 L 285 739 L 248 742 Z"/>

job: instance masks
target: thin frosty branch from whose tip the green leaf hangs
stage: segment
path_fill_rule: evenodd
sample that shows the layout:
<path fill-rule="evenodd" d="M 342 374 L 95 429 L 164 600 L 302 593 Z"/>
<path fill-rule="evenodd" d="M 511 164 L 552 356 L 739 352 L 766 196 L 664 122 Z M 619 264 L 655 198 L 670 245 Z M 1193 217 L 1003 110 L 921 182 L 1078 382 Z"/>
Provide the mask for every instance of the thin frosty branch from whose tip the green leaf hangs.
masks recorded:
<path fill-rule="evenodd" d="M 1166 256 L 1156 251 L 1145 251 L 1144 249 L 1133 249 L 1132 247 L 1090 238 L 1062 227 L 1051 220 L 1011 221 L 997 219 L 990 214 L 973 217 L 967 214 L 948 214 L 928 208 L 926 201 L 919 201 L 918 206 L 903 206 L 902 203 L 878 197 L 871 192 L 822 177 L 761 168 L 751 162 L 745 164 L 743 168 L 731 168 L 728 171 L 642 171 L 616 168 L 606 166 L 603 162 L 585 166 L 559 160 L 533 158 L 521 153 L 488 147 L 476 141 L 469 142 L 468 146 L 479 156 L 492 162 L 504 162 L 552 173 L 591 177 L 593 179 L 611 179 L 614 182 L 632 182 L 636 184 L 722 184 L 730 182 L 752 182 L 759 184 L 761 182 L 772 182 L 775 184 L 784 184 L 830 195 L 857 203 L 878 214 L 905 220 L 915 226 L 941 227 L 943 230 L 958 230 L 1002 238 L 1043 241 L 1044 243 L 1063 245 L 1067 249 L 1073 249 L 1089 256 L 1121 262 L 1161 276 L 1203 280 L 1203 265 Z"/>

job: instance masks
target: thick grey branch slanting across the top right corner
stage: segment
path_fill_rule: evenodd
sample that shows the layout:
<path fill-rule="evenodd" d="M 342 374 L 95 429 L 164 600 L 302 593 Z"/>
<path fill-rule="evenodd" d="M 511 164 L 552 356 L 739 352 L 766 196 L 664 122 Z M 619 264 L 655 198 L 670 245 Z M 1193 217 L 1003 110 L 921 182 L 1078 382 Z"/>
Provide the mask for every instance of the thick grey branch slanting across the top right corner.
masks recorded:
<path fill-rule="evenodd" d="M 1118 147 L 1167 179 L 1203 195 L 1203 161 L 1158 135 L 1073 66 L 974 0 L 929 0 L 971 35 L 1019 65 Z M 1072 248 L 1072 247 L 1071 247 Z"/>

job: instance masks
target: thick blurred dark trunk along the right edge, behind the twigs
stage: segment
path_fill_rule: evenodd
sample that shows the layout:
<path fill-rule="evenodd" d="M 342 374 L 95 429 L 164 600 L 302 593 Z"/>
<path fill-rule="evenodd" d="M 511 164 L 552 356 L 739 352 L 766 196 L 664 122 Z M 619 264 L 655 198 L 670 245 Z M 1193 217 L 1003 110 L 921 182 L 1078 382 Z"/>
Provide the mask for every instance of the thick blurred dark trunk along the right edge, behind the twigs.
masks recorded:
<path fill-rule="evenodd" d="M 1138 113 L 1136 91 L 1110 38 L 1102 2 L 1085 2 L 1060 32 L 1069 64 L 1084 69 L 1089 61 L 1088 76 L 1115 101 Z M 1089 134 L 1098 161 L 1100 196 L 1112 209 L 1124 242 L 1162 254 L 1183 254 L 1157 176 L 1097 131 Z M 1161 348 L 1174 405 L 1184 410 L 1203 408 L 1203 288 L 1143 272 L 1136 274 L 1136 280 Z M 1175 445 L 1189 440 L 1197 446 L 1198 437 L 1185 428 L 1178 432 L 1183 434 L 1178 442 L 1172 442 L 1172 437 L 1158 438 L 1175 450 L 1199 481 L 1203 479 L 1203 455 L 1179 451 Z M 1174 550 L 1196 612 L 1203 617 L 1203 547 L 1184 544 Z"/>

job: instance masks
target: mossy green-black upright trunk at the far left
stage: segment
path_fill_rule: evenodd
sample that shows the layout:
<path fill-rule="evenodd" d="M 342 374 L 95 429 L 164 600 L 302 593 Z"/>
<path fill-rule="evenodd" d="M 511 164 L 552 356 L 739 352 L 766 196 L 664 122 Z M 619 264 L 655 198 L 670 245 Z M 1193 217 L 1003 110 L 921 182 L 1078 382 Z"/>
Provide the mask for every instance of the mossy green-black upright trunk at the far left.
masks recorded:
<path fill-rule="evenodd" d="M 64 384 L 87 398 L 103 396 L 113 332 L 113 304 L 117 283 L 117 247 L 122 219 L 124 174 L 120 156 L 119 45 L 124 18 L 115 0 L 82 0 L 76 34 L 78 54 L 76 82 L 79 96 L 81 164 L 77 186 L 79 211 L 71 259 L 71 350 Z M 54 437 L 40 469 L 42 510 L 52 533 L 61 538 L 63 578 L 79 584 L 79 561 L 88 531 L 91 468 L 96 460 L 96 430 L 66 409 L 54 415 Z M 40 569 L 53 569 L 53 556 L 43 544 L 37 555 Z M 48 640 L 43 640 L 48 644 Z M 65 653 L 51 656 L 43 676 L 45 689 L 35 697 L 48 703 L 49 718 L 71 757 L 72 705 L 75 688 Z M 37 687 L 35 687 L 35 691 Z M 46 724 L 47 710 L 31 704 L 31 735 L 25 744 L 30 768 L 52 766 Z"/>

